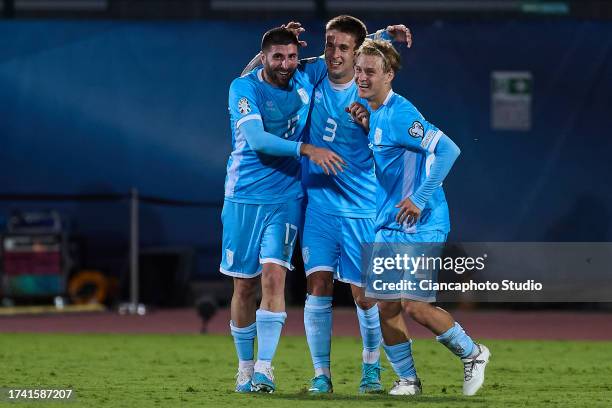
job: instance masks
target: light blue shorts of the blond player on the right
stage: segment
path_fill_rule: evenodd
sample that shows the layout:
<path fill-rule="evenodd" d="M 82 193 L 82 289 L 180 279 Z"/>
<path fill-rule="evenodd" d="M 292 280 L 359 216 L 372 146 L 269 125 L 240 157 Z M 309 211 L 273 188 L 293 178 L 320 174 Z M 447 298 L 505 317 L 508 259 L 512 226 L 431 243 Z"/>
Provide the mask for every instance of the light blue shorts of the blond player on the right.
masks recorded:
<path fill-rule="evenodd" d="M 414 234 L 403 231 L 382 229 L 376 232 L 376 246 L 374 257 L 393 257 L 395 254 L 409 254 L 413 257 L 426 255 L 427 257 L 440 257 L 443 252 L 443 244 L 446 242 L 447 233 L 443 231 L 423 231 Z M 381 245 L 382 244 L 382 245 Z M 423 244 L 423 245 L 419 245 Z M 433 244 L 433 245 L 431 245 Z M 418 270 L 415 273 L 397 272 L 386 275 L 387 282 L 404 281 L 406 285 L 413 285 L 410 289 L 401 290 L 373 290 L 371 278 L 368 279 L 366 296 L 379 300 L 409 299 L 422 302 L 435 302 L 436 291 L 433 289 L 422 289 L 421 281 L 437 282 L 437 270 Z M 424 285 L 425 287 L 428 285 Z M 380 284 L 379 284 L 380 287 Z"/>

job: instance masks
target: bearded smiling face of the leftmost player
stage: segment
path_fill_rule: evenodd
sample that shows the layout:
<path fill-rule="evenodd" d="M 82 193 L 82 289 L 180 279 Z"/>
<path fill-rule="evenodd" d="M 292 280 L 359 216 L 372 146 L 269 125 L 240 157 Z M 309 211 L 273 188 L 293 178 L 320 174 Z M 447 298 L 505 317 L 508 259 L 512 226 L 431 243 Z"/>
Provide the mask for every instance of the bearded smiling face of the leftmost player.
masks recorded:
<path fill-rule="evenodd" d="M 298 47 L 295 44 L 271 45 L 261 56 L 266 82 L 286 88 L 298 66 Z"/>

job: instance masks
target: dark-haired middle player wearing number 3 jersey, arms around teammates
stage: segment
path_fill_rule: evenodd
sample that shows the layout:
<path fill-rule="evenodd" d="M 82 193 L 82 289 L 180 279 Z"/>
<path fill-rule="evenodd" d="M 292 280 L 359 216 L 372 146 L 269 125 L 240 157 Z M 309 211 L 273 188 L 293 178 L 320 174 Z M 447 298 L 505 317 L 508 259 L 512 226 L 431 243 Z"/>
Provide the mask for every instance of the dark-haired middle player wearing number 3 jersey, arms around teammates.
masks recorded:
<path fill-rule="evenodd" d="M 290 22 L 286 27 L 296 34 L 304 31 L 296 22 Z M 307 161 L 303 162 L 302 167 L 302 181 L 308 196 L 301 231 L 308 292 L 304 326 L 315 368 L 315 377 L 309 388 L 311 393 L 333 391 L 330 351 L 334 278 L 351 285 L 357 309 L 363 341 L 359 391 L 382 390 L 378 308 L 374 301 L 365 298 L 360 274 L 361 243 L 374 239 L 374 162 L 367 144 L 367 132 L 345 111 L 358 99 L 353 80 L 355 51 L 366 35 L 367 29 L 360 20 L 346 15 L 335 17 L 326 25 L 323 58 L 303 61 L 306 67 L 327 73 L 314 83 L 307 140 L 315 146 L 338 153 L 349 163 L 344 172 L 334 177 L 323 175 L 318 167 Z M 412 43 L 410 31 L 403 25 L 389 26 L 373 36 L 404 42 L 408 46 Z M 255 58 L 245 71 L 257 63 Z M 353 110 L 354 114 L 360 114 L 358 107 Z"/>

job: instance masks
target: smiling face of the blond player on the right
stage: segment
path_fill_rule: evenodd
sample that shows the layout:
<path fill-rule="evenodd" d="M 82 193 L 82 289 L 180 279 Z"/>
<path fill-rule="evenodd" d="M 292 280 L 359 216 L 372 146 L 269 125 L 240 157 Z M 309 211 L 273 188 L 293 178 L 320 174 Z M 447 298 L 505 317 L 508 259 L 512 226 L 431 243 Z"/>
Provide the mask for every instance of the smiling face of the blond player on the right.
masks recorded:
<path fill-rule="evenodd" d="M 385 72 L 382 55 L 361 54 L 355 63 L 355 82 L 359 96 L 380 105 L 391 90 L 393 71 Z"/>

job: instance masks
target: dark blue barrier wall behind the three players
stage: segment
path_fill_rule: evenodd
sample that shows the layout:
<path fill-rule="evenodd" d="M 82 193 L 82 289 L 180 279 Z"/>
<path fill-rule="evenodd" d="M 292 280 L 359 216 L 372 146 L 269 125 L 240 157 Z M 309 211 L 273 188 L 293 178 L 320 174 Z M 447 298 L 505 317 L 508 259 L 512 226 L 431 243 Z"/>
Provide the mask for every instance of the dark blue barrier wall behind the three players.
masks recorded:
<path fill-rule="evenodd" d="M 368 22 L 373 30 L 388 22 Z M 127 193 L 216 202 L 143 205 L 143 245 L 192 245 L 216 274 L 230 152 L 227 88 L 268 23 L 0 23 L 0 193 Z M 305 22 L 322 49 L 322 22 Z M 411 25 L 394 89 L 462 149 L 445 182 L 451 239 L 612 239 L 612 25 Z M 490 128 L 490 73 L 531 71 L 528 132 Z M 125 248 L 126 203 L 57 207 L 90 252 Z"/>

